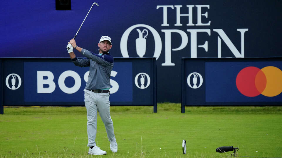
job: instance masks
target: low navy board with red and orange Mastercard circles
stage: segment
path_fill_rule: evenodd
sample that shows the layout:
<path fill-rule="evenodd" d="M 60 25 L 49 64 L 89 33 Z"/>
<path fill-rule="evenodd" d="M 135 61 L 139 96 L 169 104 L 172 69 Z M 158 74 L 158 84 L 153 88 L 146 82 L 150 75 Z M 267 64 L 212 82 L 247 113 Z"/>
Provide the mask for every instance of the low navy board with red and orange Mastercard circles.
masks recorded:
<path fill-rule="evenodd" d="M 184 106 L 282 104 L 282 58 L 182 58 Z"/>

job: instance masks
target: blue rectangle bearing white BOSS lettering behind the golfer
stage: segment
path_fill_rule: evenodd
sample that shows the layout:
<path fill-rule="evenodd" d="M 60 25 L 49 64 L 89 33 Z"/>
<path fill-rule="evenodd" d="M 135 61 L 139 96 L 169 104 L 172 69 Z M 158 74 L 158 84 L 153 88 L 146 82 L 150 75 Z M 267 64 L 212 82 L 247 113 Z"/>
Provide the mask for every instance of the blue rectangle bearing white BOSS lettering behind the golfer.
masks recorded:
<path fill-rule="evenodd" d="M 130 73 L 125 74 L 122 71 L 124 67 L 131 70 Z M 126 89 L 131 87 L 131 96 L 124 98 L 125 101 L 132 101 L 132 82 L 127 82 L 127 86 L 119 86 L 124 82 L 118 83 L 114 78 L 132 78 L 131 67 L 131 63 L 115 63 L 111 73 L 111 94 L 118 90 L 130 92 Z M 25 102 L 84 102 L 83 89 L 88 81 L 89 67 L 77 67 L 72 62 L 25 62 L 24 72 Z M 116 96 L 122 97 L 119 94 Z"/>

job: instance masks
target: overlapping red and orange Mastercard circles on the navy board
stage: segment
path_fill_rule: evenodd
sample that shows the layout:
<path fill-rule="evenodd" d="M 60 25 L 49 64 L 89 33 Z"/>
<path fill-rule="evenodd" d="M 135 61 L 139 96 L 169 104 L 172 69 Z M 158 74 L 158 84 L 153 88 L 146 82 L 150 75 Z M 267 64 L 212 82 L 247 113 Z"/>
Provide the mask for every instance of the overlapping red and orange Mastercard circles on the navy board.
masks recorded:
<path fill-rule="evenodd" d="M 247 97 L 274 97 L 282 92 L 282 71 L 274 66 L 243 68 L 236 77 L 238 90 Z"/>

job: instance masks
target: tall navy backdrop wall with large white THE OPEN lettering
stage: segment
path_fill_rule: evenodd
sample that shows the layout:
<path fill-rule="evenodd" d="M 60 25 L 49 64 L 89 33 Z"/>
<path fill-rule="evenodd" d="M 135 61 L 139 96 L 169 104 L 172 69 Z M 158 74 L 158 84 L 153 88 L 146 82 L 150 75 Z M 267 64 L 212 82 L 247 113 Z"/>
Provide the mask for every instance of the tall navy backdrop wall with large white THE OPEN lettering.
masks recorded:
<path fill-rule="evenodd" d="M 278 51 L 281 0 L 97 3 L 79 30 L 76 44 L 95 51 L 101 36 L 107 35 L 114 57 L 155 57 L 158 102 L 181 102 L 175 97 L 181 95 L 181 58 L 282 56 Z M 0 30 L 5 40 L 0 57 L 69 57 L 66 45 L 92 4 L 93 0 L 71 0 L 71 10 L 56 10 L 56 0 L 1 1 Z M 24 46 L 20 50 L 19 44 Z M 83 57 L 76 50 L 75 54 Z"/>

